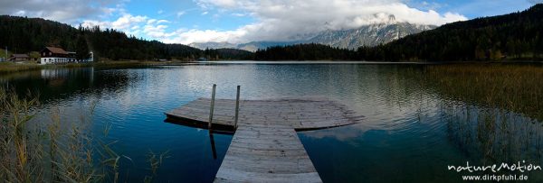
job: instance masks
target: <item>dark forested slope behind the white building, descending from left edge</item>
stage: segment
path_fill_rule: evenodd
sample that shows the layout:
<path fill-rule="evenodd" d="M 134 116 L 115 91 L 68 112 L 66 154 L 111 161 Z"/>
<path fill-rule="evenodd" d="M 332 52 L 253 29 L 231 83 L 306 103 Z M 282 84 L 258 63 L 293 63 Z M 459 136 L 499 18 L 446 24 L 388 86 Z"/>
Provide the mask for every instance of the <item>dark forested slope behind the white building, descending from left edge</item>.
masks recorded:
<path fill-rule="evenodd" d="M 199 50 L 183 44 L 145 41 L 124 32 L 100 27 L 74 28 L 41 18 L 0 16 L 0 46 L 14 53 L 40 51 L 45 46 L 79 53 L 92 50 L 96 58 L 107 59 L 248 59 L 243 50 Z M 85 57 L 85 55 L 78 55 Z"/>

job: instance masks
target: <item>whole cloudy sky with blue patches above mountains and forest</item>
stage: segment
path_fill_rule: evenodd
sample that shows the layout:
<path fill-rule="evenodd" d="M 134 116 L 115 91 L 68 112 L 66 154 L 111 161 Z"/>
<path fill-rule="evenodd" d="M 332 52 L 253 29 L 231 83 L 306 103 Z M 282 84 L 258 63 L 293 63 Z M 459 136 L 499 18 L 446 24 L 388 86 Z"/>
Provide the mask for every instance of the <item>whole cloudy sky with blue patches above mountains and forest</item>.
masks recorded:
<path fill-rule="evenodd" d="M 167 43 L 289 41 L 386 21 L 441 25 L 543 0 L 1 0 L 0 14 L 100 25 Z"/>

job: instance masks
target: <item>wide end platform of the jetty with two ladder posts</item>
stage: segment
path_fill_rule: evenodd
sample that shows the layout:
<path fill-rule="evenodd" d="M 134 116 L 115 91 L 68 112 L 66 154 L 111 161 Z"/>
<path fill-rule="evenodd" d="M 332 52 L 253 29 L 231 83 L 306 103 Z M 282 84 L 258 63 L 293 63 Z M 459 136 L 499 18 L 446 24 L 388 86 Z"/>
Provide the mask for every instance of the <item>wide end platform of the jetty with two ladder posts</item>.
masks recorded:
<path fill-rule="evenodd" d="M 167 112 L 170 118 L 209 122 L 209 98 L 198 98 Z M 216 99 L 213 124 L 234 125 L 235 100 Z M 313 130 L 356 124 L 361 115 L 346 105 L 326 99 L 241 100 L 238 125 L 281 124 L 295 130 Z"/>

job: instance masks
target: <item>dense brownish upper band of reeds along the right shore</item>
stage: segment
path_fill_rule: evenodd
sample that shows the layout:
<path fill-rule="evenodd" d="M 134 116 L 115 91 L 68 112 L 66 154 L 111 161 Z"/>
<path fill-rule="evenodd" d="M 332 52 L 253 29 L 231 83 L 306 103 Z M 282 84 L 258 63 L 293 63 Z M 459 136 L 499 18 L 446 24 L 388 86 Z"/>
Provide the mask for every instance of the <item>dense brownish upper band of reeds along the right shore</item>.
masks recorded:
<path fill-rule="evenodd" d="M 425 69 L 440 94 L 452 100 L 543 120 L 543 67 L 502 64 L 434 65 Z"/>

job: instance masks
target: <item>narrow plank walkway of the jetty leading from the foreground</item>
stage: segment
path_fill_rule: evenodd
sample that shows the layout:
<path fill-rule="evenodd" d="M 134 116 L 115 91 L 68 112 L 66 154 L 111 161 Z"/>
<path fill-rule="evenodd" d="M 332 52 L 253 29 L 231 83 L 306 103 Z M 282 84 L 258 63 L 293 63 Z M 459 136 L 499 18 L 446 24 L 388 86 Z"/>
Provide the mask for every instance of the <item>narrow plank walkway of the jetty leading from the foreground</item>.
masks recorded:
<path fill-rule="evenodd" d="M 238 127 L 214 182 L 322 182 L 291 126 Z"/>

